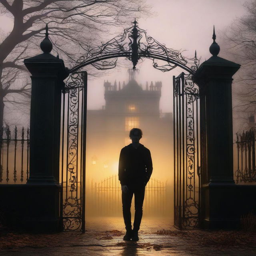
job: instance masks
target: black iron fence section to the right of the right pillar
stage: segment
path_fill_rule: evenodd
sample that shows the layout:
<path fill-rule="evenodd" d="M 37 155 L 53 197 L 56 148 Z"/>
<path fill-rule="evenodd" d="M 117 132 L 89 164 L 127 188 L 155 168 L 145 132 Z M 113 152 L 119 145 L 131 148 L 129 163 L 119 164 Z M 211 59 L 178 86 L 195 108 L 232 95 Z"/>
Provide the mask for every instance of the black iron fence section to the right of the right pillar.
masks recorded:
<path fill-rule="evenodd" d="M 255 172 L 255 133 L 254 128 L 236 134 L 237 170 L 236 183 L 256 182 Z"/>

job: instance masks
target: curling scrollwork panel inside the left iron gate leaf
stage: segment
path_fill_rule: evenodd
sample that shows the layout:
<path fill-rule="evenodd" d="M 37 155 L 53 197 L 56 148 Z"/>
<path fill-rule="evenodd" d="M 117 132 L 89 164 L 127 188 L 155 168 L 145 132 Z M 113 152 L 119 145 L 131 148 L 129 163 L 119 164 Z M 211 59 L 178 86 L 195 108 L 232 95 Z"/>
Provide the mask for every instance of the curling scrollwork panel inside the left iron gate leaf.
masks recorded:
<path fill-rule="evenodd" d="M 66 134 L 66 193 L 63 198 L 63 227 L 64 230 L 81 230 L 82 228 L 82 202 L 81 194 L 78 192 L 78 184 L 81 184 L 78 166 L 78 148 L 80 141 L 79 124 L 79 94 L 84 88 L 84 79 L 81 72 L 70 74 L 66 81 L 63 92 L 63 100 L 67 98 L 68 106 L 64 109 L 67 112 L 67 134 Z M 66 94 L 66 96 L 65 96 Z M 65 136 L 63 127 L 63 136 Z M 80 187 L 81 189 L 81 187 Z"/>

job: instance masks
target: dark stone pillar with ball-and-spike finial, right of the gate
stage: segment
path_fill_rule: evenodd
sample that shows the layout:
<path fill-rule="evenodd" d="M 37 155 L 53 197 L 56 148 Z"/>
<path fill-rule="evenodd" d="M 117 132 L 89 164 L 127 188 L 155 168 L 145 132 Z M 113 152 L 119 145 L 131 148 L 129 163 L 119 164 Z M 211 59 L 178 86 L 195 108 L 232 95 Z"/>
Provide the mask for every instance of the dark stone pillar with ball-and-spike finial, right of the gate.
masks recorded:
<path fill-rule="evenodd" d="M 212 39 L 213 56 L 194 75 L 200 90 L 200 222 L 202 228 L 234 228 L 239 219 L 235 214 L 231 84 L 240 65 L 218 57 L 215 32 Z"/>

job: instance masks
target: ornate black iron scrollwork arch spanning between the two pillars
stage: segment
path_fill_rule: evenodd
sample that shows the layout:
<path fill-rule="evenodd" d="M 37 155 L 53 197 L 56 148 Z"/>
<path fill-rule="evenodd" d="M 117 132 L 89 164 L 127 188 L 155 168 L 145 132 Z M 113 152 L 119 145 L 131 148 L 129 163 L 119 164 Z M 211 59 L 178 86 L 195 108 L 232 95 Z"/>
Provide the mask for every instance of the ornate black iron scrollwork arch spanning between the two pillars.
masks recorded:
<path fill-rule="evenodd" d="M 133 24 L 132 27 L 126 28 L 123 34 L 114 37 L 101 46 L 96 48 L 88 46 L 86 54 L 77 60 L 70 72 L 75 72 L 89 64 L 97 69 L 114 68 L 118 57 L 126 57 L 131 60 L 133 69 L 136 68 L 138 60 L 149 58 L 153 62 L 153 67 L 162 72 L 170 71 L 177 66 L 190 74 L 197 70 L 199 60 L 196 52 L 194 58 L 186 58 L 182 56 L 181 50 L 167 48 L 152 36 L 148 36 L 146 30 L 138 27 L 136 19 Z M 107 61 L 106 59 L 112 60 Z M 164 64 L 160 64 L 159 61 L 164 61 Z"/>

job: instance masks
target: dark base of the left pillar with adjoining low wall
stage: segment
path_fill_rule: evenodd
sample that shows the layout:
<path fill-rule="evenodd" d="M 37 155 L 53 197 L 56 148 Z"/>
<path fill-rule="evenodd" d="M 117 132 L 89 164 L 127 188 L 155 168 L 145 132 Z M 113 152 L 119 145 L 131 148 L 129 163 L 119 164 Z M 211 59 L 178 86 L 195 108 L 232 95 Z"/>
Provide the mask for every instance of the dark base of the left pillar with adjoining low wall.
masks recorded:
<path fill-rule="evenodd" d="M 0 226 L 24 232 L 60 232 L 60 184 L 0 184 Z"/>

